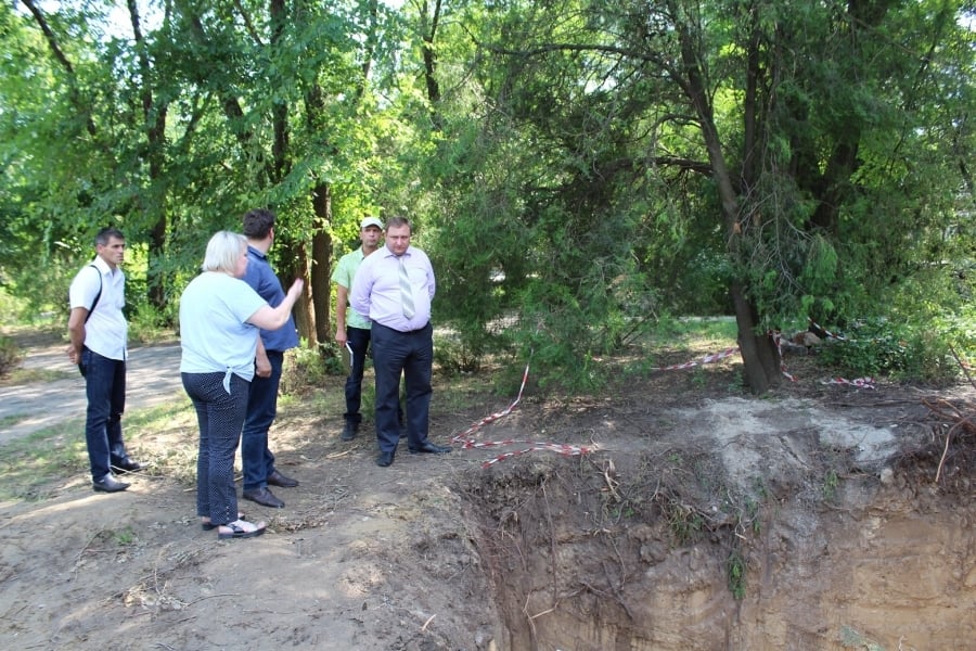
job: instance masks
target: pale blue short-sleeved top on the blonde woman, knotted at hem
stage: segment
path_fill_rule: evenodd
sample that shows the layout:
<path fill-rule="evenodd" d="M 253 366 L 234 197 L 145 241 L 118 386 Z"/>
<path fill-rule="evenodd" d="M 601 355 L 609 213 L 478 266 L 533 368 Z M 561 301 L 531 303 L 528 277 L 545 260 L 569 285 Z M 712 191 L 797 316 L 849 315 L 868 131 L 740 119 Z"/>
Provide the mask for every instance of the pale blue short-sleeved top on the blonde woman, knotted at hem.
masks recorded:
<path fill-rule="evenodd" d="M 218 271 L 193 279 L 180 296 L 180 372 L 231 373 L 251 382 L 258 329 L 249 319 L 267 305 L 243 280 Z"/>

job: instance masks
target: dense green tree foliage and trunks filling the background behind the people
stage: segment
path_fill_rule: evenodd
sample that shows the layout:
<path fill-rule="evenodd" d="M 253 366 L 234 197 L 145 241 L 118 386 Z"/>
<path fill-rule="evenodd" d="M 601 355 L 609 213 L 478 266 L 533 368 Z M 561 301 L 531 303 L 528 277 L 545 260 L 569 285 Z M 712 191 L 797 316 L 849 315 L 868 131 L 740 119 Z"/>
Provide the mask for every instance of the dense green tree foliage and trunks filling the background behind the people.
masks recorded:
<path fill-rule="evenodd" d="M 309 345 L 368 213 L 416 221 L 466 360 L 575 382 L 675 314 L 735 315 L 757 392 L 772 328 L 971 319 L 972 2 L 800 4 L 8 3 L 0 282 L 56 304 L 111 221 L 166 322 L 265 205 Z"/>

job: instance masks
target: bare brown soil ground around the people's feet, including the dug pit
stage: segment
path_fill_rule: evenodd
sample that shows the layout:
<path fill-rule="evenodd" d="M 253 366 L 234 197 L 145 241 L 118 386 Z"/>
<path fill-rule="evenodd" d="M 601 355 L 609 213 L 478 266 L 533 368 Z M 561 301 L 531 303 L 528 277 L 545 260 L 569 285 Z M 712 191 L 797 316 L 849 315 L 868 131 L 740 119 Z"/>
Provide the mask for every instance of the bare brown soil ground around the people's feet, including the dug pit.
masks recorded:
<path fill-rule="evenodd" d="M 182 400 L 130 439 L 152 467 L 128 492 L 93 493 L 82 459 L 0 503 L 0 647 L 973 649 L 974 435 L 947 446 L 923 400 L 965 412 L 976 392 L 791 365 L 762 398 L 734 358 L 590 397 L 530 380 L 468 434 L 514 396 L 437 375 L 432 439 L 454 451 L 401 445 L 385 469 L 371 421 L 339 441 L 330 378 L 272 430 L 300 486 L 241 501 L 268 533 L 230 541 L 195 516 Z"/>

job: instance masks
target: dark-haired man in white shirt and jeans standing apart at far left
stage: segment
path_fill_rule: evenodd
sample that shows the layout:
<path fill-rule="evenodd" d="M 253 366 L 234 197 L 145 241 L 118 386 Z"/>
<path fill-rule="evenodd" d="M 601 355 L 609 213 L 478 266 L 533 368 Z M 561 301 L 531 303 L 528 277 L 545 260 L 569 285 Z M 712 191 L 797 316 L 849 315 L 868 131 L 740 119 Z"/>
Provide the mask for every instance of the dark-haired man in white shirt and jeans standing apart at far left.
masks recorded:
<path fill-rule="evenodd" d="M 92 488 L 117 493 L 129 484 L 116 480 L 113 471 L 143 468 L 129 458 L 121 434 L 129 324 L 123 314 L 126 277 L 118 265 L 125 257 L 126 238 L 115 228 L 103 228 L 95 235 L 95 259 L 72 281 L 68 357 L 86 381 L 85 439 Z"/>

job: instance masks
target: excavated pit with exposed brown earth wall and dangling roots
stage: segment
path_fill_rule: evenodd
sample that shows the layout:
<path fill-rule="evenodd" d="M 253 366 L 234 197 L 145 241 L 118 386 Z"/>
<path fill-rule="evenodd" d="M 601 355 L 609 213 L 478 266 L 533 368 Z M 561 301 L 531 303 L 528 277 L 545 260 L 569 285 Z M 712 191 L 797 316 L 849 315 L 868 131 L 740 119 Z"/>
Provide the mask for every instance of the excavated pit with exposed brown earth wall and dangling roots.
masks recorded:
<path fill-rule="evenodd" d="M 473 477 L 461 489 L 503 620 L 496 648 L 972 648 L 966 473 L 965 495 L 920 484 L 932 461 L 896 460 L 882 483 L 856 450 L 792 438 L 804 472 L 760 462 L 745 482 L 694 445 Z"/>

